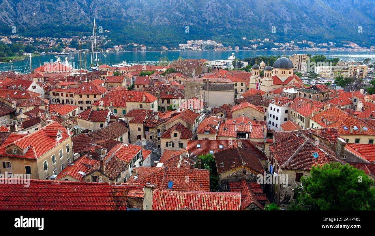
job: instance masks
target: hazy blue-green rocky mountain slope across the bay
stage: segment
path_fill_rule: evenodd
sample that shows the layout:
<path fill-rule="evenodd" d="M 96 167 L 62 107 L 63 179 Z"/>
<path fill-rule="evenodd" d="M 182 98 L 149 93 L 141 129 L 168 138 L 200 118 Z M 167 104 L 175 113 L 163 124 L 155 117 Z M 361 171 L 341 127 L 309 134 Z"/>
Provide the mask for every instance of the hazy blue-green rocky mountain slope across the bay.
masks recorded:
<path fill-rule="evenodd" d="M 369 46 L 374 10 L 373 0 L 0 0 L 0 32 L 11 34 L 15 25 L 28 36 L 88 35 L 95 18 L 118 43 L 244 45 L 242 37 L 267 37 Z"/>

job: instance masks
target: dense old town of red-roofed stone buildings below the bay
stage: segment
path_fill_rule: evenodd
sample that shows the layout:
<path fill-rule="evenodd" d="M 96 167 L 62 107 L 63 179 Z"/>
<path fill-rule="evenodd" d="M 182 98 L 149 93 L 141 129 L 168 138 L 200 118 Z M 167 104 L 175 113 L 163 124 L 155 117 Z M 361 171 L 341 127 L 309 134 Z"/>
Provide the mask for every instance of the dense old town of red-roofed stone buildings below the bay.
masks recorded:
<path fill-rule="evenodd" d="M 306 85 L 285 56 L 251 72 L 204 62 L 0 72 L 0 173 L 31 178 L 1 184 L 27 197 L 0 209 L 288 209 L 312 166 L 375 180 L 375 95 Z M 259 183 L 267 174 L 288 183 Z"/>

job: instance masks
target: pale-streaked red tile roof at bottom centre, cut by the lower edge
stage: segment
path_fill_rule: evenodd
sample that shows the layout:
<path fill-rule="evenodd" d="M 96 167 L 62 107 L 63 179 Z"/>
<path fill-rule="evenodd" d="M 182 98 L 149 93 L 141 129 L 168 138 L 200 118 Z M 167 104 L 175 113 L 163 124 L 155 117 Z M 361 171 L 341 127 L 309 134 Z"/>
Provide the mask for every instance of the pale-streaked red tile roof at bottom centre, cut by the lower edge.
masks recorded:
<path fill-rule="evenodd" d="M 241 193 L 154 190 L 152 202 L 154 211 L 239 211 Z"/>

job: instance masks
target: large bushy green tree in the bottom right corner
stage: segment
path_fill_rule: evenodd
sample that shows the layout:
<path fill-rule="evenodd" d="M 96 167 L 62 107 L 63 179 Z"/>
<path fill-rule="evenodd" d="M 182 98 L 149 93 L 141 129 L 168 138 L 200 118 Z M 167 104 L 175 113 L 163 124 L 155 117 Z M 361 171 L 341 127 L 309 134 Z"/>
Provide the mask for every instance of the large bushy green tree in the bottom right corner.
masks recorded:
<path fill-rule="evenodd" d="M 339 162 L 312 166 L 310 176 L 301 179 L 302 187 L 294 210 L 374 210 L 375 188 L 363 170 Z M 303 189 L 303 190 L 302 190 Z"/>

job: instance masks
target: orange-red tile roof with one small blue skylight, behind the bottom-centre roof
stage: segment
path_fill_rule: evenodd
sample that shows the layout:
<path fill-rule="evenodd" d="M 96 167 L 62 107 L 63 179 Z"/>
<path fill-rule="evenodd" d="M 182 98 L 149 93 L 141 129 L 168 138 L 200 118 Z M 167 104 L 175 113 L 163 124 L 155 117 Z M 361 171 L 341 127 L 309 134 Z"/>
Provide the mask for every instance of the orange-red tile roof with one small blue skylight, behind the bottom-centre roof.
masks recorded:
<path fill-rule="evenodd" d="M 139 166 L 136 176 L 138 178 L 132 176 L 126 183 L 151 183 L 156 185 L 155 189 L 161 190 L 210 190 L 210 172 L 205 169 Z M 168 188 L 169 181 L 173 181 L 172 188 Z"/>

